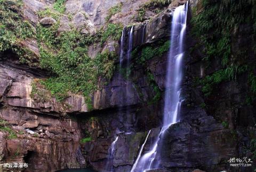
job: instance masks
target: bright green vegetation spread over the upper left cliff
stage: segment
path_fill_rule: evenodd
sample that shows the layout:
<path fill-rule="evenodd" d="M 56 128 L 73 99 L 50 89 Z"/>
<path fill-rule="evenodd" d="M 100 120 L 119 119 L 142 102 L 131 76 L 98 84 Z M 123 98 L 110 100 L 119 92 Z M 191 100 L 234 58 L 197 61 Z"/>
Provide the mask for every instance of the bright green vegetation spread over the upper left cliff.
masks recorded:
<path fill-rule="evenodd" d="M 81 34 L 76 29 L 59 33 L 59 19 L 65 12 L 65 2 L 55 1 L 55 11 L 50 8 L 39 11 L 39 17 L 52 17 L 57 22 L 48 27 L 38 24 L 34 29 L 28 21 L 23 20 L 20 11 L 22 1 L 0 0 L 0 52 L 11 50 L 19 55 L 20 62 L 51 72 L 52 77 L 32 83 L 31 97 L 47 101 L 54 96 L 62 102 L 69 93 L 83 93 L 88 108 L 92 109 L 91 94 L 98 88 L 98 78 L 111 79 L 116 55 L 106 51 L 91 59 L 87 55 L 87 46 L 94 43 L 102 45 L 109 39 L 118 40 L 123 26 L 109 23 L 105 30 L 99 29 L 93 36 Z M 109 15 L 120 11 L 121 6 L 111 8 Z M 33 52 L 20 46 L 22 40 L 27 38 L 37 39 L 39 59 Z"/>

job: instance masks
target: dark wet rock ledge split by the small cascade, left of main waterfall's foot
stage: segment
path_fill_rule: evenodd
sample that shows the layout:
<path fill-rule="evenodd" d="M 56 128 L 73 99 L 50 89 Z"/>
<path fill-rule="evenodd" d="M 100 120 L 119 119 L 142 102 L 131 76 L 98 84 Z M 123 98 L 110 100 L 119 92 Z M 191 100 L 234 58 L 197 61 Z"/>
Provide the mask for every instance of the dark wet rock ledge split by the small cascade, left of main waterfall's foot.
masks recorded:
<path fill-rule="evenodd" d="M 91 148 L 86 151 L 95 170 L 110 171 L 113 165 L 116 171 L 130 171 L 144 136 L 144 132 L 118 134 L 114 159 L 108 159 L 111 139 L 85 144 L 84 149 Z"/>

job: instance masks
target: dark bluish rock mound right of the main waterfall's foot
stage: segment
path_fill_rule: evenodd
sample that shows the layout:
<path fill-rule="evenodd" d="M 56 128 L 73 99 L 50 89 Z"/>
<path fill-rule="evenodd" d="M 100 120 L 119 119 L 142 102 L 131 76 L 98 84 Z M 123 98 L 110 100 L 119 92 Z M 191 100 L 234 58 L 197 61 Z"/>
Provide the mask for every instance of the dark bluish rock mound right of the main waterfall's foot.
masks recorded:
<path fill-rule="evenodd" d="M 171 126 L 162 137 L 159 149 L 163 168 L 195 168 L 206 171 L 224 170 L 229 157 L 236 154 L 236 139 L 204 110 L 197 108 L 190 116 Z"/>

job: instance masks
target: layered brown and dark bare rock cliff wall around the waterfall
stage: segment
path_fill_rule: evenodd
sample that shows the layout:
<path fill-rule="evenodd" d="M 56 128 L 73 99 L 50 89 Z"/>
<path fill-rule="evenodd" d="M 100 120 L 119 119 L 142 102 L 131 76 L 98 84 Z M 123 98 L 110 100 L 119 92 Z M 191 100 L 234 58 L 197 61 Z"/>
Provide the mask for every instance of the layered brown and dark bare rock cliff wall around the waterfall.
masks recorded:
<path fill-rule="evenodd" d="M 123 2 L 122 12 L 113 15 L 110 21 L 122 21 L 124 25 L 135 22 L 132 12 L 145 2 Z M 29 163 L 25 171 L 81 167 L 108 171 L 108 149 L 119 129 L 113 166 L 115 171 L 130 171 L 148 130 L 153 128 L 143 152 L 150 149 L 150 143 L 156 139 L 162 126 L 167 52 L 153 56 L 145 63 L 138 59 L 141 58 L 143 48 L 159 48 L 163 44 L 159 41 L 169 39 L 173 7 L 185 2 L 173 1 L 168 9 L 166 7 L 166 10 L 156 15 L 148 10 L 145 16 L 152 19 L 135 23 L 132 45 L 133 50 L 137 50 L 132 56 L 131 73 L 127 77 L 115 71 L 111 80 L 93 94 L 92 111 L 87 108 L 82 95 L 71 94 L 65 102 L 59 103 L 54 97 L 48 96 L 43 87 L 39 89 L 44 94 L 31 94 L 31 83 L 38 78 L 47 78 L 51 73 L 21 64 L 12 52 L 1 53 L 1 126 L 11 128 L 15 133 L 12 136 L 10 129 L 0 132 L 1 164 Z M 36 11 L 53 4 L 51 1 L 24 3 L 26 18 L 35 23 L 39 22 Z M 81 27 L 82 32 L 94 32 L 104 25 L 107 9 L 115 3 L 119 1 L 67 1 L 66 13 L 67 16 L 74 15 L 71 22 L 77 28 Z M 200 5 L 200 1 L 190 3 L 191 6 L 197 3 Z M 89 17 L 84 18 L 81 15 L 83 12 Z M 239 76 L 237 80 L 221 82 L 213 88 L 210 98 L 205 97 L 202 86 L 195 85 L 194 79 L 203 79 L 217 71 L 220 62 L 213 60 L 209 68 L 201 50 L 191 51 L 190 48 L 196 46 L 196 40 L 190 37 L 190 28 L 187 29 L 187 54 L 183 69 L 186 73 L 182 84 L 185 101 L 182 104 L 181 120 L 161 138 L 163 147 L 157 151 L 161 169 L 149 171 L 252 171 L 252 167 L 231 168 L 227 163 L 231 157 L 253 156 L 250 140 L 255 136 L 255 108 L 241 103 L 249 89 L 244 81 L 246 75 Z M 68 24 L 63 22 L 59 29 L 69 29 Z M 38 47 L 33 41 L 25 45 L 37 52 Z M 95 56 L 95 52 L 104 48 L 119 52 L 118 42 L 112 41 L 103 47 L 89 46 L 88 53 Z M 156 97 L 157 94 L 161 96 Z M 42 96 L 47 99 L 41 99 Z M 29 129 L 28 132 L 25 129 Z M 82 138 L 90 139 L 84 143 L 81 142 Z"/>

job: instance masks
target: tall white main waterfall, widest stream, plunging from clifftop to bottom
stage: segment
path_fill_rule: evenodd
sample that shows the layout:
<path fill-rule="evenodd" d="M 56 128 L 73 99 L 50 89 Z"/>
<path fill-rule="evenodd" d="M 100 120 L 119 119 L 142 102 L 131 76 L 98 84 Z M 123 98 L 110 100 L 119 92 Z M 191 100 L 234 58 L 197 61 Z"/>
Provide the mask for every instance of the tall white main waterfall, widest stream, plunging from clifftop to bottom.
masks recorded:
<path fill-rule="evenodd" d="M 185 37 L 186 23 L 187 23 L 188 2 L 184 5 L 178 6 L 173 13 L 172 27 L 171 27 L 171 47 L 167 62 L 167 75 L 165 83 L 164 96 L 164 119 L 163 127 L 155 141 L 151 146 L 150 151 L 145 153 L 142 157 L 138 156 L 131 172 L 146 171 L 148 169 L 157 168 L 158 163 L 156 153 L 158 144 L 167 128 L 172 124 L 178 122 L 178 114 L 181 107 L 181 81 L 182 81 L 182 59 L 184 55 L 183 40 Z M 145 143 L 147 140 L 145 141 Z M 144 144 L 143 144 L 144 146 Z M 143 148 L 141 148 L 143 149 Z"/>

